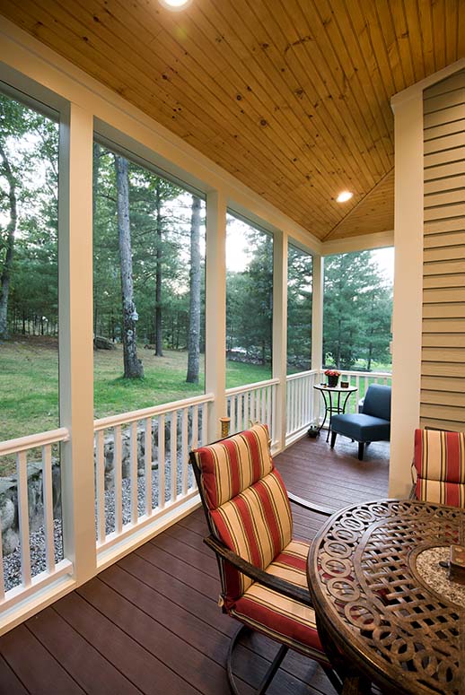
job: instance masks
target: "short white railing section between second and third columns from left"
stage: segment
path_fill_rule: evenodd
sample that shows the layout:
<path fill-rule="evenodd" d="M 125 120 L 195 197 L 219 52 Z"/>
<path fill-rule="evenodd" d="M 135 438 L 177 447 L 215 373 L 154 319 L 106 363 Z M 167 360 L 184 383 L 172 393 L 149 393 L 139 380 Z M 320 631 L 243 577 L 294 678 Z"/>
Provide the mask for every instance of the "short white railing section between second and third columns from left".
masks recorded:
<path fill-rule="evenodd" d="M 243 387 L 226 389 L 227 414 L 231 418 L 230 432 L 240 432 L 260 421 L 268 425 L 271 441 L 276 440 L 276 392 L 279 379 L 259 381 Z"/>

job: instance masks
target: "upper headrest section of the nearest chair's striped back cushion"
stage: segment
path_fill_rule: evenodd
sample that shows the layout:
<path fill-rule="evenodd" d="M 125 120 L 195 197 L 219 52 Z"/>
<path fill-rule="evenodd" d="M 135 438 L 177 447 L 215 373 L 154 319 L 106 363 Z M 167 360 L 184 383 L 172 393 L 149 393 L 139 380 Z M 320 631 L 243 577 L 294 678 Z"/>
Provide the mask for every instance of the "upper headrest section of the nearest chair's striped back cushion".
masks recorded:
<path fill-rule="evenodd" d="M 208 508 L 231 500 L 273 470 L 267 425 L 197 449 Z"/>

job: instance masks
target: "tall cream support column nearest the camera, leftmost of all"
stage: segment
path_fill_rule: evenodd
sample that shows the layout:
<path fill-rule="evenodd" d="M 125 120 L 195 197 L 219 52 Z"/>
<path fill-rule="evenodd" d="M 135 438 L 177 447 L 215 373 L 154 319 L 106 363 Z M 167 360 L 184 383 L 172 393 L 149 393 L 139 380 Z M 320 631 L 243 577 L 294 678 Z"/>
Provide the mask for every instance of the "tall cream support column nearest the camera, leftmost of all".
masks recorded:
<path fill-rule="evenodd" d="M 92 114 L 74 103 L 60 129 L 59 380 L 65 557 L 82 584 L 95 574 L 92 351 Z"/>

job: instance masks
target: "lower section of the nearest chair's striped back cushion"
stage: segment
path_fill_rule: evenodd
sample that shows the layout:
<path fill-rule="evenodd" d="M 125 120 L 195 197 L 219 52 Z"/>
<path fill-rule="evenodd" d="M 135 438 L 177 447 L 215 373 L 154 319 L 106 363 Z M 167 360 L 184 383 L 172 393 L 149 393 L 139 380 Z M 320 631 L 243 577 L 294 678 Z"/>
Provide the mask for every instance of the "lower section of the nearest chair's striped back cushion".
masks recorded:
<path fill-rule="evenodd" d="M 223 543 L 259 569 L 267 569 L 292 538 L 291 508 L 276 469 L 210 515 Z M 227 562 L 223 574 L 224 604 L 229 608 L 252 580 Z"/>

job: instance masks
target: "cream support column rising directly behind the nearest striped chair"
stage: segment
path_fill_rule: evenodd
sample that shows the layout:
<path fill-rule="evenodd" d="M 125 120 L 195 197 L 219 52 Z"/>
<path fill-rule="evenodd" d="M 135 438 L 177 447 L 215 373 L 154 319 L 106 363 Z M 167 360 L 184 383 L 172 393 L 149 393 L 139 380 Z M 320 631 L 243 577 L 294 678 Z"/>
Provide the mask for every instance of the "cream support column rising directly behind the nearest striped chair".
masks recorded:
<path fill-rule="evenodd" d="M 208 411 L 208 441 L 219 439 L 226 415 L 226 200 L 206 195 L 206 393 L 215 394 Z"/>

